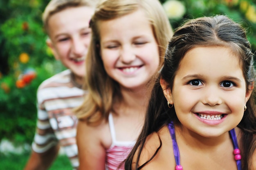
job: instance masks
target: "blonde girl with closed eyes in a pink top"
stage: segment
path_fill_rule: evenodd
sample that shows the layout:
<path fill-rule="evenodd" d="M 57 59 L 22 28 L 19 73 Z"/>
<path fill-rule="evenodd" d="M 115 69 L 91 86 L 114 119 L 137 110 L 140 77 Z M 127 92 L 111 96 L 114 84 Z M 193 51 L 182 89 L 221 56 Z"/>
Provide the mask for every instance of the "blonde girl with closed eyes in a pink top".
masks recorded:
<path fill-rule="evenodd" d="M 123 169 L 120 163 L 142 128 L 149 81 L 163 63 L 172 30 L 158 0 L 105 0 L 90 26 L 89 92 L 76 110 L 80 168 Z"/>

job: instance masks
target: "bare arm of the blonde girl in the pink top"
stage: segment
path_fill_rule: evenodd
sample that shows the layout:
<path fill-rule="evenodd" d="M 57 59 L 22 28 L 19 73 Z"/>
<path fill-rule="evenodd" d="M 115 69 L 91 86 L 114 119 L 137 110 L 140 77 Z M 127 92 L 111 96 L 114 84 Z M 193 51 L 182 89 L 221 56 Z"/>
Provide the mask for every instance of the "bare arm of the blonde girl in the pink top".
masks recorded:
<path fill-rule="evenodd" d="M 76 142 L 81 170 L 105 170 L 106 151 L 100 140 L 100 126 L 78 121 Z"/>

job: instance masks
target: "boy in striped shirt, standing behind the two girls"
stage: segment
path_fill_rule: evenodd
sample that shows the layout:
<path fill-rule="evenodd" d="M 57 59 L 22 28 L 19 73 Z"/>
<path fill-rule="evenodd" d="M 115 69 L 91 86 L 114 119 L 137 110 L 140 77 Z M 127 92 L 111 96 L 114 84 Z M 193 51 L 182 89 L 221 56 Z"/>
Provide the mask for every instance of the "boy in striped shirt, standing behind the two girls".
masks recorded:
<path fill-rule="evenodd" d="M 85 55 L 91 39 L 89 21 L 95 0 L 52 0 L 43 13 L 43 24 L 56 60 L 68 69 L 38 88 L 38 120 L 26 170 L 47 169 L 64 148 L 72 166 L 79 167 L 76 146 L 77 119 L 72 111 L 83 101 Z"/>

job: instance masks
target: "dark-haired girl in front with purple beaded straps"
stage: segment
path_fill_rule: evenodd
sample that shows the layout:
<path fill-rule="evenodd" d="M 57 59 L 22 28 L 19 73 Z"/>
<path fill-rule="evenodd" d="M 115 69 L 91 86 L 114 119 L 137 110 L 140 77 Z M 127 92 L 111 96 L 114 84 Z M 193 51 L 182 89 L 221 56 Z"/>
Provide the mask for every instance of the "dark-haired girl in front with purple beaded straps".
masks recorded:
<path fill-rule="evenodd" d="M 253 57 L 227 16 L 178 28 L 126 170 L 255 170 Z"/>

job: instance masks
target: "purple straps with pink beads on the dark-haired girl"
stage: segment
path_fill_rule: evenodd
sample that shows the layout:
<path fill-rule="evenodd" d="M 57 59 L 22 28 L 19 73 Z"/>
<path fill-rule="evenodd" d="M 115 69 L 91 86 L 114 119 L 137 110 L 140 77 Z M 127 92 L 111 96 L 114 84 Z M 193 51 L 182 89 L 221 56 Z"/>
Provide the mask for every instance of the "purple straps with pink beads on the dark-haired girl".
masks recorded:
<path fill-rule="evenodd" d="M 173 141 L 173 153 L 174 153 L 175 162 L 176 162 L 175 170 L 183 170 L 182 166 L 180 165 L 180 151 L 179 151 L 179 148 L 177 145 L 174 124 L 172 121 L 171 121 L 171 123 L 168 124 L 168 129 L 171 134 L 172 141 Z M 235 129 L 230 130 L 229 134 L 231 136 L 233 147 L 234 147 L 233 153 L 235 155 L 237 168 L 238 168 L 238 170 L 242 170 L 241 155 L 240 155 L 240 150 L 238 148 Z"/>

